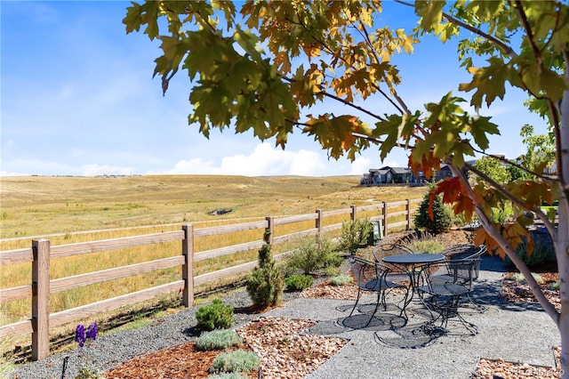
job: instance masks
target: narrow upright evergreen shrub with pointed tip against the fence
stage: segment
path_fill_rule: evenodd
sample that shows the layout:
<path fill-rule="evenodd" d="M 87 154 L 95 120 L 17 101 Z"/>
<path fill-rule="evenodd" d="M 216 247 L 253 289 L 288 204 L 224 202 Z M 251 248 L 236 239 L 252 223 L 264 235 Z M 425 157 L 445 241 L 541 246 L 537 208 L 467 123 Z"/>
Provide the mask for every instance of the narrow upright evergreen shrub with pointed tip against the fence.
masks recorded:
<path fill-rule="evenodd" d="M 270 245 L 266 244 L 260 248 L 259 267 L 252 270 L 246 287 L 253 305 L 258 309 L 265 309 L 281 301 L 284 278 L 270 254 Z"/>

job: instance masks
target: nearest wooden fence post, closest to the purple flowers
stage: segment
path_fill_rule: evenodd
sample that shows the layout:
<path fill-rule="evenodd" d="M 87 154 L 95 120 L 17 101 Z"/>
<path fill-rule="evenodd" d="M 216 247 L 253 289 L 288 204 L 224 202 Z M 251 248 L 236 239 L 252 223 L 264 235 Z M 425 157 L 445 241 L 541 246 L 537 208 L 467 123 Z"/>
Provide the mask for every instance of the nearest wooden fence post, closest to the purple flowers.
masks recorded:
<path fill-rule="evenodd" d="M 32 240 L 32 360 L 50 354 L 50 241 Z"/>

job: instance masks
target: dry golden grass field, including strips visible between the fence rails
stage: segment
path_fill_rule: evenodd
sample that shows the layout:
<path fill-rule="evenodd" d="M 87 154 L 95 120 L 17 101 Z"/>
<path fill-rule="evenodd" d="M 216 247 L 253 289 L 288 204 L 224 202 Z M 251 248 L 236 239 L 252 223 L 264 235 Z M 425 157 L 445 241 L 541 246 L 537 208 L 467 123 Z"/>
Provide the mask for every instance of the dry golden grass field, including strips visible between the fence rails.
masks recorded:
<path fill-rule="evenodd" d="M 421 198 L 424 187 L 358 186 L 359 177 L 244 177 L 216 175 L 129 177 L 5 177 L 0 181 L 0 250 L 30 247 L 32 238 L 49 238 L 52 246 L 119 238 L 165 230 L 182 223 L 196 228 L 267 216 L 309 214 L 370 201 Z M 211 215 L 216 209 L 228 214 Z M 99 230 L 99 231 L 92 231 Z M 249 236 L 250 237 L 250 236 Z M 225 240 L 196 241 L 196 252 L 230 246 L 246 233 Z M 259 236 L 251 239 L 259 239 Z M 255 252 L 199 262 L 196 275 L 254 259 Z M 51 278 L 146 262 L 180 254 L 180 243 L 144 246 L 52 260 Z M 229 261 L 228 261 L 229 259 Z M 158 286 L 180 278 L 180 270 L 154 271 L 130 278 L 52 294 L 51 312 L 102 298 Z M 0 287 L 28 285 L 31 264 L 4 267 Z M 28 319 L 30 302 L 3 304 L 0 325 Z"/>

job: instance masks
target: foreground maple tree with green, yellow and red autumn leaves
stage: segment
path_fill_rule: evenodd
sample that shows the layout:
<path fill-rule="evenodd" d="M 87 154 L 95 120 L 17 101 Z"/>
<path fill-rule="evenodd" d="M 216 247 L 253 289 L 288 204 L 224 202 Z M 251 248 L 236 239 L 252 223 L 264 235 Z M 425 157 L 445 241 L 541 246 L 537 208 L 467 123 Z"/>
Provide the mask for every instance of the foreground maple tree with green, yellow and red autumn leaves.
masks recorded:
<path fill-rule="evenodd" d="M 155 75 L 164 93 L 184 69 L 191 86 L 189 124 L 209 137 L 212 128 L 252 131 L 260 140 L 284 147 L 293 131 L 318 141 L 330 157 L 353 160 L 364 150 L 379 149 L 381 159 L 392 149 L 406 149 L 415 173 L 429 177 L 442 163 L 452 178 L 440 181 L 431 198 L 442 194 L 455 214 L 476 214 L 483 228 L 475 241 L 501 257 L 509 256 L 527 279 L 543 309 L 557 324 L 562 346 L 569 346 L 569 5 L 555 1 L 397 1 L 413 7 L 413 31 L 389 28 L 381 1 L 246 1 L 212 0 L 132 3 L 124 18 L 126 31 L 143 30 L 161 41 Z M 381 18 L 379 15 L 381 14 Z M 413 52 L 425 35 L 441 43 L 458 39 L 458 58 L 470 74 L 457 84 L 461 97 L 441 99 L 411 109 L 397 92 L 405 77 L 390 58 Z M 548 121 L 555 141 L 555 160 L 533 159 L 519 165 L 528 173 L 500 183 L 467 159 L 485 153 L 500 125 L 474 109 L 492 107 L 509 85 L 527 94 L 525 104 Z M 378 112 L 374 99 L 387 101 Z M 309 114 L 318 103 L 335 101 L 348 114 Z M 366 124 L 359 117 L 375 120 Z M 565 125 L 565 127 L 563 127 Z M 530 137 L 527 134 L 526 137 Z M 528 163 L 533 162 L 533 163 Z M 554 165 L 556 173 L 546 170 Z M 469 183 L 464 169 L 477 175 Z M 530 177 L 532 180 L 525 180 Z M 558 226 L 542 203 L 558 200 Z M 493 219 L 493 209 L 509 206 L 510 222 Z M 516 254 L 527 241 L 531 212 L 549 231 L 561 280 L 561 310 L 548 302 L 525 263 Z M 562 368 L 569 373 L 569 349 Z"/>

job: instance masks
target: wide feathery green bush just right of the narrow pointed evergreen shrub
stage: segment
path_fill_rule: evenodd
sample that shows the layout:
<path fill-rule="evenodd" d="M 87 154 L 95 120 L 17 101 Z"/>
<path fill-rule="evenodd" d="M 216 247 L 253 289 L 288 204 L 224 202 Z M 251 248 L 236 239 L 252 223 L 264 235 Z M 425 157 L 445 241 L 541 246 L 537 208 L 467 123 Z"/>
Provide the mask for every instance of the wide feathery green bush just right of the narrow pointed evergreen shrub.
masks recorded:
<path fill-rule="evenodd" d="M 297 238 L 293 242 L 292 251 L 285 261 L 286 270 L 291 273 L 301 270 L 303 274 L 308 275 L 328 267 L 338 267 L 343 262 L 329 238 L 321 237 L 319 244 L 314 238 Z"/>

